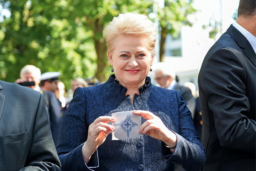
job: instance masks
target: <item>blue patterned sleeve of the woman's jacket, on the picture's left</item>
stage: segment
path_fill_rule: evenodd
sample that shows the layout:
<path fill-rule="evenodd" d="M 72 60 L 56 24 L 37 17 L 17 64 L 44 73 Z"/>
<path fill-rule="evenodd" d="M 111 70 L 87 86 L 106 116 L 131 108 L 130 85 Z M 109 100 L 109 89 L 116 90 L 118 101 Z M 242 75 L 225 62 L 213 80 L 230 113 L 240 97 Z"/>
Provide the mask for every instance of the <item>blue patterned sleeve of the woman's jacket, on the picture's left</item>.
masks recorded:
<path fill-rule="evenodd" d="M 74 92 L 74 98 L 63 115 L 58 145 L 56 147 L 60 157 L 62 171 L 86 171 L 91 170 L 88 166 L 99 166 L 97 150 L 91 157 L 88 166 L 85 164 L 82 156 L 82 146 L 88 135 L 85 113 L 86 97 L 84 91 L 81 88 L 77 88 Z"/>

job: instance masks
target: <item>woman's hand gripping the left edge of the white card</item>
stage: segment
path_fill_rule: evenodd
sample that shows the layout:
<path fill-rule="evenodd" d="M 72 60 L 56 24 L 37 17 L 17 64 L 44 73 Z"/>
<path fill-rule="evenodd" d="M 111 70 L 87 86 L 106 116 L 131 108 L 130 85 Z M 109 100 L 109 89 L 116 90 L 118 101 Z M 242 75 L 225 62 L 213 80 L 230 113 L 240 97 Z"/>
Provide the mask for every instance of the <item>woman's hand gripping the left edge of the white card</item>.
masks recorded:
<path fill-rule="evenodd" d="M 88 128 L 88 137 L 82 147 L 82 155 L 86 164 L 90 161 L 91 155 L 95 150 L 103 144 L 110 132 L 114 131 L 114 127 L 108 122 L 114 122 L 111 116 L 100 116 Z"/>

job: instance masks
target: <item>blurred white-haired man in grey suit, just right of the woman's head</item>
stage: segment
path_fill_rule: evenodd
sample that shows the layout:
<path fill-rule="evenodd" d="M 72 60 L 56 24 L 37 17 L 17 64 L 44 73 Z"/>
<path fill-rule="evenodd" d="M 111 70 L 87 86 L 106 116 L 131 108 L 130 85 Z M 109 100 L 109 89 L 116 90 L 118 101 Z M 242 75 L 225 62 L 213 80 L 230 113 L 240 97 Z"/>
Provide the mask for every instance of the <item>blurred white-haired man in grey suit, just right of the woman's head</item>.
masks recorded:
<path fill-rule="evenodd" d="M 191 90 L 185 86 L 178 84 L 175 78 L 175 71 L 171 69 L 169 65 L 163 62 L 159 62 L 157 64 L 155 69 L 155 79 L 157 83 L 165 89 L 180 90 L 181 96 L 183 97 L 184 101 L 188 103 L 187 106 L 191 111 L 192 117 L 194 117 L 195 98 L 193 97 Z"/>

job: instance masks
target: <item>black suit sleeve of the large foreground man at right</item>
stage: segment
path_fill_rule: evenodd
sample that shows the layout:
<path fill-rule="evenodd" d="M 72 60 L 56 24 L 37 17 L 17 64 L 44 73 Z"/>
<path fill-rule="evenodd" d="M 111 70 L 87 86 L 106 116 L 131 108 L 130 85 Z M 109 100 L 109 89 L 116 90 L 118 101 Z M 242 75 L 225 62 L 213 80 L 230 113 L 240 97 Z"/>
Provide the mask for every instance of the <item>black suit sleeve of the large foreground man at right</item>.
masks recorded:
<path fill-rule="evenodd" d="M 242 61 L 231 49 L 219 49 L 210 57 L 200 75 L 202 89 L 221 146 L 255 153 L 256 124 L 248 119 L 246 72 Z"/>

